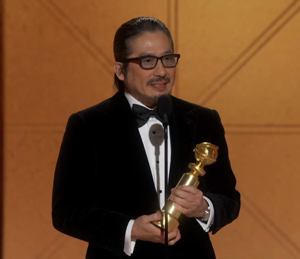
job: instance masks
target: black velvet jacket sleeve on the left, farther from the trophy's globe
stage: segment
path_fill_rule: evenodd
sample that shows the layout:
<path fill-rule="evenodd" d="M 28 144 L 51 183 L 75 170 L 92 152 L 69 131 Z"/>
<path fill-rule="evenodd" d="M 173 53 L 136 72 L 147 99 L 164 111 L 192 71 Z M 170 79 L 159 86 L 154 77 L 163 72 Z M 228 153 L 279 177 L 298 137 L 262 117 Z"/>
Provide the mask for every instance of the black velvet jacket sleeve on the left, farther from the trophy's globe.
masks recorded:
<path fill-rule="evenodd" d="M 67 122 L 55 168 L 53 226 L 64 234 L 109 251 L 122 252 L 130 216 L 101 207 L 91 132 L 76 113 Z M 99 162 L 98 162 L 99 163 Z M 105 183 L 101 183 L 105 184 Z"/>

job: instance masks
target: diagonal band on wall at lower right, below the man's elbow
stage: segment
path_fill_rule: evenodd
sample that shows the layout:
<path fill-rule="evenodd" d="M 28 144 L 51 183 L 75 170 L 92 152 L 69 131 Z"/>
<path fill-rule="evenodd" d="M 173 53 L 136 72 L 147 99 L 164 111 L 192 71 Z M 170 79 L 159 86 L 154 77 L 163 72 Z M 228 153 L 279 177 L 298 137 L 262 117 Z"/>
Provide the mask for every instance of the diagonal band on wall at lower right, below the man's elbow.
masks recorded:
<path fill-rule="evenodd" d="M 243 208 L 265 229 L 280 246 L 282 246 L 293 258 L 299 258 L 300 247 L 289 236 L 277 226 L 256 204 L 246 195 L 241 193 Z"/>

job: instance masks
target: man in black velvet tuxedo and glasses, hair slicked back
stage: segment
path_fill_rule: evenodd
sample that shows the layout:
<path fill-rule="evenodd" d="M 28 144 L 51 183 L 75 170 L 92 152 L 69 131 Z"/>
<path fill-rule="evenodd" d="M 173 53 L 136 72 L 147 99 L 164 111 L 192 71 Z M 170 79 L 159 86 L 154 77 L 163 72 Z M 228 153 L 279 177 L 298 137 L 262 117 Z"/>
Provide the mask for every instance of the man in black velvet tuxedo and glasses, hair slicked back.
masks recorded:
<path fill-rule="evenodd" d="M 110 99 L 70 116 L 55 170 L 52 220 L 89 243 L 86 258 L 163 258 L 164 233 L 151 222 L 164 206 L 164 139 L 154 108 L 171 94 L 179 54 L 166 26 L 139 17 L 114 39 Z M 171 96 L 168 138 L 170 199 L 182 212 L 168 235 L 170 258 L 215 258 L 208 231 L 232 222 L 240 208 L 218 113 Z M 146 115 L 140 116 L 141 114 Z M 196 144 L 219 146 L 198 188 L 174 189 Z"/>

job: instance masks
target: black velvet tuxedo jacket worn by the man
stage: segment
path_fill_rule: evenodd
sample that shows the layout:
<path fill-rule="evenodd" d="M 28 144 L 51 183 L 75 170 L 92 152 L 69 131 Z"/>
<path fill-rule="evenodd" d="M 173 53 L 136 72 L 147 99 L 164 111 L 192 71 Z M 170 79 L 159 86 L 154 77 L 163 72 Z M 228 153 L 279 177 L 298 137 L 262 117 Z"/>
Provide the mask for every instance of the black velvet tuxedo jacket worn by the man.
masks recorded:
<path fill-rule="evenodd" d="M 215 110 L 171 99 L 169 195 L 182 174 L 189 171 L 188 164 L 195 162 L 196 144 L 219 146 L 217 162 L 205 166 L 206 174 L 198 187 L 214 205 L 214 234 L 232 222 L 240 208 L 224 129 Z M 87 241 L 86 258 L 128 258 L 123 249 L 129 220 L 159 209 L 137 122 L 124 93 L 72 114 L 55 169 L 54 227 Z M 179 223 L 182 237 L 169 246 L 170 258 L 215 258 L 209 235 L 195 218 L 181 215 Z M 131 258 L 163 256 L 163 244 L 137 240 Z"/>

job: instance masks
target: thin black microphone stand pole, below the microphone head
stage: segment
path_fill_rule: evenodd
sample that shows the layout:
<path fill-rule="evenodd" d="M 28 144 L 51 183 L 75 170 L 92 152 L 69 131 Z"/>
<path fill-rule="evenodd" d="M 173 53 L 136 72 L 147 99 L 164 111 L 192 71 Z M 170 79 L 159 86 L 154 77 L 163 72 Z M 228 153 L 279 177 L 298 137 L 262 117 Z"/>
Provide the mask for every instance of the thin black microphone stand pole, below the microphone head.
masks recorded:
<path fill-rule="evenodd" d="M 165 138 L 165 259 L 168 259 L 168 116 L 163 116 L 164 138 Z"/>

